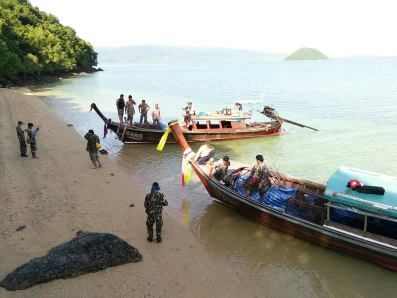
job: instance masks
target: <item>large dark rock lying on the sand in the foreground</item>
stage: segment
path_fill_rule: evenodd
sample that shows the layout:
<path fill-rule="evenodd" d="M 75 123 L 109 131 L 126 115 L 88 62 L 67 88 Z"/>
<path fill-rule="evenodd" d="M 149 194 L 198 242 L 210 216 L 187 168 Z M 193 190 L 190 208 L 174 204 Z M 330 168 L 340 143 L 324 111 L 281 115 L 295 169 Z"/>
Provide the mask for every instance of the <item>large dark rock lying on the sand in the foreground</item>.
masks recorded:
<path fill-rule="evenodd" d="M 55 279 L 73 278 L 141 260 L 139 251 L 117 236 L 88 233 L 16 268 L 0 282 L 0 286 L 9 291 L 23 290 Z"/>

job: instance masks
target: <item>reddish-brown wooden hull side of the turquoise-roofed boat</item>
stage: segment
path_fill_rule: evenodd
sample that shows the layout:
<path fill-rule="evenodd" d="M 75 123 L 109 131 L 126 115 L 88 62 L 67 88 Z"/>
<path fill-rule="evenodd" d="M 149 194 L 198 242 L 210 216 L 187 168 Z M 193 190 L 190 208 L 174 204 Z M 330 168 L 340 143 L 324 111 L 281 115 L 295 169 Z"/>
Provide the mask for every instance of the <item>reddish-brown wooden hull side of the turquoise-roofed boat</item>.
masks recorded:
<path fill-rule="evenodd" d="M 237 212 L 292 237 L 397 270 L 396 249 L 369 243 L 362 238 L 342 234 L 326 226 L 316 225 L 266 207 L 260 202 L 209 180 L 197 164 L 192 164 L 192 167 L 209 195 Z"/>

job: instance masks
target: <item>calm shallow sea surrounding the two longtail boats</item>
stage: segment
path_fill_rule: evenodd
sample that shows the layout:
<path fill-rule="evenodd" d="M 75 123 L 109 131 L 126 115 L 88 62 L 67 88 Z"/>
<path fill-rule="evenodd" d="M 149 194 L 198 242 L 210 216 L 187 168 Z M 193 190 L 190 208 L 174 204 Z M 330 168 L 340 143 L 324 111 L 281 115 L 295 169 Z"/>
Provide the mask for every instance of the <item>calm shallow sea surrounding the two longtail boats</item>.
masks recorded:
<path fill-rule="evenodd" d="M 164 123 L 182 120 L 181 106 L 215 112 L 236 102 L 243 110 L 273 106 L 288 133 L 214 142 L 217 156 L 253 164 L 267 155 L 281 173 L 326 183 L 341 165 L 397 176 L 397 60 L 266 62 L 101 63 L 105 71 L 34 89 L 84 134 L 102 135 L 103 122 L 90 104 L 114 120 L 123 93 L 158 104 Z M 136 116 L 135 116 L 136 117 Z M 254 120 L 266 118 L 254 112 Z M 131 179 L 148 190 L 162 186 L 168 211 L 204 245 L 249 275 L 261 297 L 392 297 L 395 272 L 275 232 L 213 202 L 196 175 L 180 184 L 181 152 L 167 144 L 126 145 L 108 134 L 105 148 L 131 168 Z M 197 150 L 201 144 L 192 144 Z M 82 150 L 84 150 L 82 148 Z M 89 166 L 87 164 L 87 166 Z M 143 198 L 142 198 L 143 199 Z"/>

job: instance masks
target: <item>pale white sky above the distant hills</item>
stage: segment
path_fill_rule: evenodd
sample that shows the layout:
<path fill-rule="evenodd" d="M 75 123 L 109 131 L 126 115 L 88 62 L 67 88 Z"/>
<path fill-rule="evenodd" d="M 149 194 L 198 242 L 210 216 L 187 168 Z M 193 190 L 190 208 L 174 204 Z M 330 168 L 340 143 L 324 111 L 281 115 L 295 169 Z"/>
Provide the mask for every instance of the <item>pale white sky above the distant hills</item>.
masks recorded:
<path fill-rule="evenodd" d="M 97 46 L 222 47 L 397 56 L 393 0 L 30 0 Z M 395 4 L 396 3 L 396 4 Z"/>

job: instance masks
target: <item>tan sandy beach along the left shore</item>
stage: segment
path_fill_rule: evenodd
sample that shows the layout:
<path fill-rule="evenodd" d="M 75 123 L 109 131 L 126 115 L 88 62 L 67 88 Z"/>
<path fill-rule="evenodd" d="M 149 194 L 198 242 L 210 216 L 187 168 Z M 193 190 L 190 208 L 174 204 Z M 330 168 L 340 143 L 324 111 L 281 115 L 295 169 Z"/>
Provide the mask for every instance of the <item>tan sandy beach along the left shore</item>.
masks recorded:
<path fill-rule="evenodd" d="M 18 120 L 24 128 L 42 125 L 39 159 L 29 147 L 29 157 L 20 156 Z M 215 258 L 166 207 L 163 241 L 149 243 L 143 200 L 153 181 L 133 180 L 110 155 L 100 155 L 103 168 L 92 170 L 86 140 L 29 89 L 0 89 L 0 135 L 0 280 L 79 230 L 115 234 L 143 256 L 22 291 L 0 288 L 0 297 L 256 297 L 249 277 L 233 271 L 226 256 Z M 175 190 L 158 182 L 172 200 Z M 21 225 L 26 228 L 16 232 Z"/>

